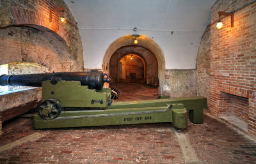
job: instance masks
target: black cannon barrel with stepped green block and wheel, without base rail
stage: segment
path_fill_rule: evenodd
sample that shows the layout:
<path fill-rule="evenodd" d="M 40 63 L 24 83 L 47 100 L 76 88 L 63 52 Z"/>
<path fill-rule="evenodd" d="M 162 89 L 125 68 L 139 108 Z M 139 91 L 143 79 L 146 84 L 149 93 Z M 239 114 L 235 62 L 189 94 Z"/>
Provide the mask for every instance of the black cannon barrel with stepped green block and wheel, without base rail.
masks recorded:
<path fill-rule="evenodd" d="M 102 89 L 105 82 L 110 82 L 110 78 L 102 71 L 0 76 L 1 86 L 42 87 L 38 114 L 46 120 L 58 117 L 61 110 L 70 107 L 105 109 L 113 101 L 109 89 Z"/>

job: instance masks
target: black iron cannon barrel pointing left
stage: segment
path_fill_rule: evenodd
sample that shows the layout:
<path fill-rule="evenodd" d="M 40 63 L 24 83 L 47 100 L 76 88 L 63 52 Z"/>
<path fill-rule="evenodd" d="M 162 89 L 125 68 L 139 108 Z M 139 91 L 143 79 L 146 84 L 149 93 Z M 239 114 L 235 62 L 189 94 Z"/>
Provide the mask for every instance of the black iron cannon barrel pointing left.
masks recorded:
<path fill-rule="evenodd" d="M 0 86 L 31 86 L 41 87 L 43 81 L 56 84 L 60 80 L 80 81 L 81 86 L 89 89 L 102 89 L 104 82 L 110 82 L 108 74 L 102 71 L 36 73 L 26 75 L 1 75 Z"/>

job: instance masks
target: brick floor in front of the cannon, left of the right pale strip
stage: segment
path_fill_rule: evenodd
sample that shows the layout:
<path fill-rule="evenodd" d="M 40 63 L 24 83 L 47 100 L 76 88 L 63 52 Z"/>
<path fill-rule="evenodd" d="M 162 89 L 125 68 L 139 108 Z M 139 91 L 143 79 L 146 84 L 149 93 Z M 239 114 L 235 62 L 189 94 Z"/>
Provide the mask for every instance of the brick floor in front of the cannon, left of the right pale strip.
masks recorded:
<path fill-rule="evenodd" d="M 4 124 L 1 145 L 31 133 L 43 137 L 0 153 L 17 163 L 184 163 L 170 124 L 33 130 L 33 121 Z"/>

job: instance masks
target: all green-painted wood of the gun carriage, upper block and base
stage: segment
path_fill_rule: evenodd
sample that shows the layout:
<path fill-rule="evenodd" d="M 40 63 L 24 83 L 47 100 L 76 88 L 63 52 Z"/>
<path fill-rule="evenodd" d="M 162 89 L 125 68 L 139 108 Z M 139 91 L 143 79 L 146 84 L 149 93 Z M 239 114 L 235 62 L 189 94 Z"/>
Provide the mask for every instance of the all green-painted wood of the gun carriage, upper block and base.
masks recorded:
<path fill-rule="evenodd" d="M 164 122 L 182 129 L 187 127 L 186 108 L 193 123 L 203 123 L 202 108 L 205 108 L 206 99 L 202 97 L 170 100 L 166 96 L 157 100 L 117 101 L 108 107 L 110 89 L 95 91 L 76 81 L 62 81 L 55 85 L 42 82 L 42 88 L 42 100 L 53 98 L 60 101 L 63 111 L 52 120 L 35 115 L 36 129 Z M 103 100 L 103 103 L 92 103 L 92 100 Z"/>

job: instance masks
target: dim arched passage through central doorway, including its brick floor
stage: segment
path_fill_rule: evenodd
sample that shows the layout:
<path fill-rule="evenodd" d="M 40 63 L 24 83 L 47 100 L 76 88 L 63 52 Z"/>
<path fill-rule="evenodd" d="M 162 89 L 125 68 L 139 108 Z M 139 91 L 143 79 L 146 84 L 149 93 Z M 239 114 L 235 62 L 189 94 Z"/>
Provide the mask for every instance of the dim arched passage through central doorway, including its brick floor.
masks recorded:
<path fill-rule="evenodd" d="M 120 100 L 147 100 L 158 96 L 157 59 L 144 47 L 127 46 L 116 50 L 109 61 L 110 87 L 121 92 Z"/>

